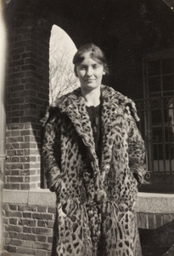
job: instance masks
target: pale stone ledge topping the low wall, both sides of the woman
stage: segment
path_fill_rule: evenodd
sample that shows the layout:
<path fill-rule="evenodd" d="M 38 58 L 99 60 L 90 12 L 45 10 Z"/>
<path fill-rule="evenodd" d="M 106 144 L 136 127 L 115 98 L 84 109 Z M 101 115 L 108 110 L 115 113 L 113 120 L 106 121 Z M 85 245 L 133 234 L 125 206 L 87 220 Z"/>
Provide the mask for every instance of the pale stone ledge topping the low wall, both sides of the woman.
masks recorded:
<path fill-rule="evenodd" d="M 8 190 L 3 189 L 3 202 L 54 207 L 55 193 L 48 189 Z M 174 195 L 138 193 L 137 212 L 173 213 Z"/>

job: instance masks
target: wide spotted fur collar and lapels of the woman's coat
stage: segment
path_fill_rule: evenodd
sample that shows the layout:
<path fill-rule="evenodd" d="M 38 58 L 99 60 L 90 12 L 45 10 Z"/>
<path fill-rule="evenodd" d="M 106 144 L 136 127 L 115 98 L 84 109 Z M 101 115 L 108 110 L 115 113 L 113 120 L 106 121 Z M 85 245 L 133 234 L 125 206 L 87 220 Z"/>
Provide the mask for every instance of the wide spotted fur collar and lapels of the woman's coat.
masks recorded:
<path fill-rule="evenodd" d="M 102 134 L 103 134 L 103 151 L 101 170 L 98 167 L 98 157 L 95 152 L 95 145 L 93 141 L 93 130 L 87 114 L 85 100 L 81 96 L 81 88 L 70 92 L 69 94 L 58 98 L 48 108 L 48 113 L 43 119 L 42 123 L 45 125 L 52 113 L 59 111 L 68 115 L 76 132 L 81 137 L 83 143 L 87 146 L 88 154 L 91 158 L 93 167 L 93 177 L 96 180 L 96 187 L 102 189 L 101 182 L 104 180 L 105 166 L 109 165 L 112 158 L 112 148 L 115 140 L 114 125 L 121 125 L 121 117 L 124 113 L 132 114 L 138 121 L 137 109 L 135 103 L 131 99 L 123 96 L 114 89 L 101 85 L 101 95 L 103 98 L 102 108 Z"/>

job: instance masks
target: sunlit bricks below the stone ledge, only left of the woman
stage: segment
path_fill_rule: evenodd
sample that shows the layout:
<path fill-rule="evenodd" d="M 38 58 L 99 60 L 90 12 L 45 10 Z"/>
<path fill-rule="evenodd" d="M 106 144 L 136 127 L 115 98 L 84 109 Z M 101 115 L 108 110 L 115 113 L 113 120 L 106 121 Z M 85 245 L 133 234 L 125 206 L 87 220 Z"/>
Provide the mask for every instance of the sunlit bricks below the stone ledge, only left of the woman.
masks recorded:
<path fill-rule="evenodd" d="M 55 207 L 4 204 L 4 248 L 8 253 L 51 255 Z"/>

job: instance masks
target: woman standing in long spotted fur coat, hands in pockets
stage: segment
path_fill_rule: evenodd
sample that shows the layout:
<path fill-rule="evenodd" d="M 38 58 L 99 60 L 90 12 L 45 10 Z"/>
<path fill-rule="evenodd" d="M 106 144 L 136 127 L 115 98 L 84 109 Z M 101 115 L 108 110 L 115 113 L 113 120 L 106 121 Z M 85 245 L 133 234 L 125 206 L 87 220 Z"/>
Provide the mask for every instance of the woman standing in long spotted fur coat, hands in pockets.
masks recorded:
<path fill-rule="evenodd" d="M 144 145 L 134 102 L 102 85 L 108 73 L 94 44 L 73 59 L 81 87 L 48 108 L 42 147 L 57 195 L 52 255 L 141 256 L 134 206 Z"/>

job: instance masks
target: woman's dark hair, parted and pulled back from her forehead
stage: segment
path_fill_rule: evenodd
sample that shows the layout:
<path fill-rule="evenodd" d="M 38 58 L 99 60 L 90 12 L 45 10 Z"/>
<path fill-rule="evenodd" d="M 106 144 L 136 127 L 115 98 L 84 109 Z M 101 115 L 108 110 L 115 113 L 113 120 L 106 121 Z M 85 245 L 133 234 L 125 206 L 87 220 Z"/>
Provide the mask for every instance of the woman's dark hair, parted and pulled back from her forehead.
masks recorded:
<path fill-rule="evenodd" d="M 104 72 L 106 74 L 109 73 L 109 68 L 108 68 L 108 64 L 104 55 L 104 52 L 102 49 L 100 49 L 97 45 L 91 43 L 91 44 L 84 44 L 82 45 L 76 52 L 76 55 L 74 55 L 73 58 L 73 64 L 75 65 L 74 67 L 74 71 L 75 74 L 76 73 L 76 67 L 78 65 L 81 64 L 81 62 L 84 60 L 84 54 L 89 52 L 90 53 L 90 57 L 95 60 L 98 61 L 100 64 L 102 64 L 104 66 Z"/>

